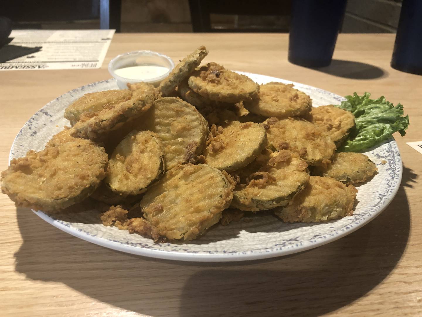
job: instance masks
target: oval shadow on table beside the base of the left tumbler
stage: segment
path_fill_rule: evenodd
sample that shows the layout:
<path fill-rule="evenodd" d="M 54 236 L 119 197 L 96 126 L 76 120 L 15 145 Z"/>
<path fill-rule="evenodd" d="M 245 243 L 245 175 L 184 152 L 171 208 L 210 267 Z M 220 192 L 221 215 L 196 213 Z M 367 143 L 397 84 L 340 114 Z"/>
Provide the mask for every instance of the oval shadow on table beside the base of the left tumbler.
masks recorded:
<path fill-rule="evenodd" d="M 351 60 L 333 59 L 330 66 L 312 67 L 312 69 L 337 77 L 350 79 L 376 79 L 388 75 L 382 68 Z"/>

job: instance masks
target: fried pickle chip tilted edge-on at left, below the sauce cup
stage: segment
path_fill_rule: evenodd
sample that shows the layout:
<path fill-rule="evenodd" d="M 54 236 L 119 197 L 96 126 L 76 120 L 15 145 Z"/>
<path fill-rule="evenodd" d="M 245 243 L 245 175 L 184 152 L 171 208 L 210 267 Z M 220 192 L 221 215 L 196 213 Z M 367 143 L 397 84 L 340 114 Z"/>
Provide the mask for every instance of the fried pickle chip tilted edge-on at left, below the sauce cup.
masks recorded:
<path fill-rule="evenodd" d="M 148 110 L 155 95 L 135 90 L 132 98 L 120 104 L 116 104 L 111 109 L 104 109 L 87 121 L 77 122 L 71 128 L 71 135 L 93 141 L 104 141 L 111 131 L 122 128 L 128 120 L 139 118 L 143 112 Z"/>

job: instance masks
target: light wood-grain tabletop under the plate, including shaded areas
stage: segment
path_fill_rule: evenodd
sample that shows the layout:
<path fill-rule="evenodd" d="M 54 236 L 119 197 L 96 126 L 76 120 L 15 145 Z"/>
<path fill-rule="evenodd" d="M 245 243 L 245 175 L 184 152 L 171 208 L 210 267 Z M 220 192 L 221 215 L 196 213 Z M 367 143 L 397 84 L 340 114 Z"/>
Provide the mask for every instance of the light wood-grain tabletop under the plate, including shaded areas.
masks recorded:
<path fill-rule="evenodd" d="M 287 34 L 116 34 L 98 70 L 0 71 L 0 169 L 31 115 L 67 91 L 110 76 L 112 57 L 150 49 L 177 61 L 206 45 L 239 71 L 290 79 L 339 95 L 369 91 L 404 104 L 396 137 L 403 181 L 365 227 L 288 257 L 229 264 L 154 260 L 105 249 L 44 222 L 0 195 L 1 316 L 422 315 L 422 76 L 390 67 L 394 35 L 341 34 L 324 70 L 287 61 Z"/>

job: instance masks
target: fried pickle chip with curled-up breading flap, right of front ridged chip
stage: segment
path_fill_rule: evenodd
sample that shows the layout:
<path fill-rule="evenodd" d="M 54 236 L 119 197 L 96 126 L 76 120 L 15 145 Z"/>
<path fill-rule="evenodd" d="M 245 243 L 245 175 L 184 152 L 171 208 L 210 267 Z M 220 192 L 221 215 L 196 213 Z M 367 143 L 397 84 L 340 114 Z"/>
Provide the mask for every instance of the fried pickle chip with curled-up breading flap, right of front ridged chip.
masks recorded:
<path fill-rule="evenodd" d="M 288 150 L 271 154 L 264 150 L 250 165 L 232 173 L 240 180 L 233 193 L 232 208 L 259 211 L 287 205 L 309 181 L 308 164 L 298 153 Z"/>

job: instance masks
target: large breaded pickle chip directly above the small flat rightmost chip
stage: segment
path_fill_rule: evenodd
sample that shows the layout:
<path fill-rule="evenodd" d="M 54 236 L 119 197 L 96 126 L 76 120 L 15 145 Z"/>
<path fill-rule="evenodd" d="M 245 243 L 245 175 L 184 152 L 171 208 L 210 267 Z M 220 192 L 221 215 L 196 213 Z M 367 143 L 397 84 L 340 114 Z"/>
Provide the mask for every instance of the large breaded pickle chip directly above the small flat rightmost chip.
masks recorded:
<path fill-rule="evenodd" d="M 325 165 L 334 154 L 335 144 L 331 138 L 306 120 L 268 118 L 263 124 L 273 148 L 298 152 L 309 165 Z"/>

